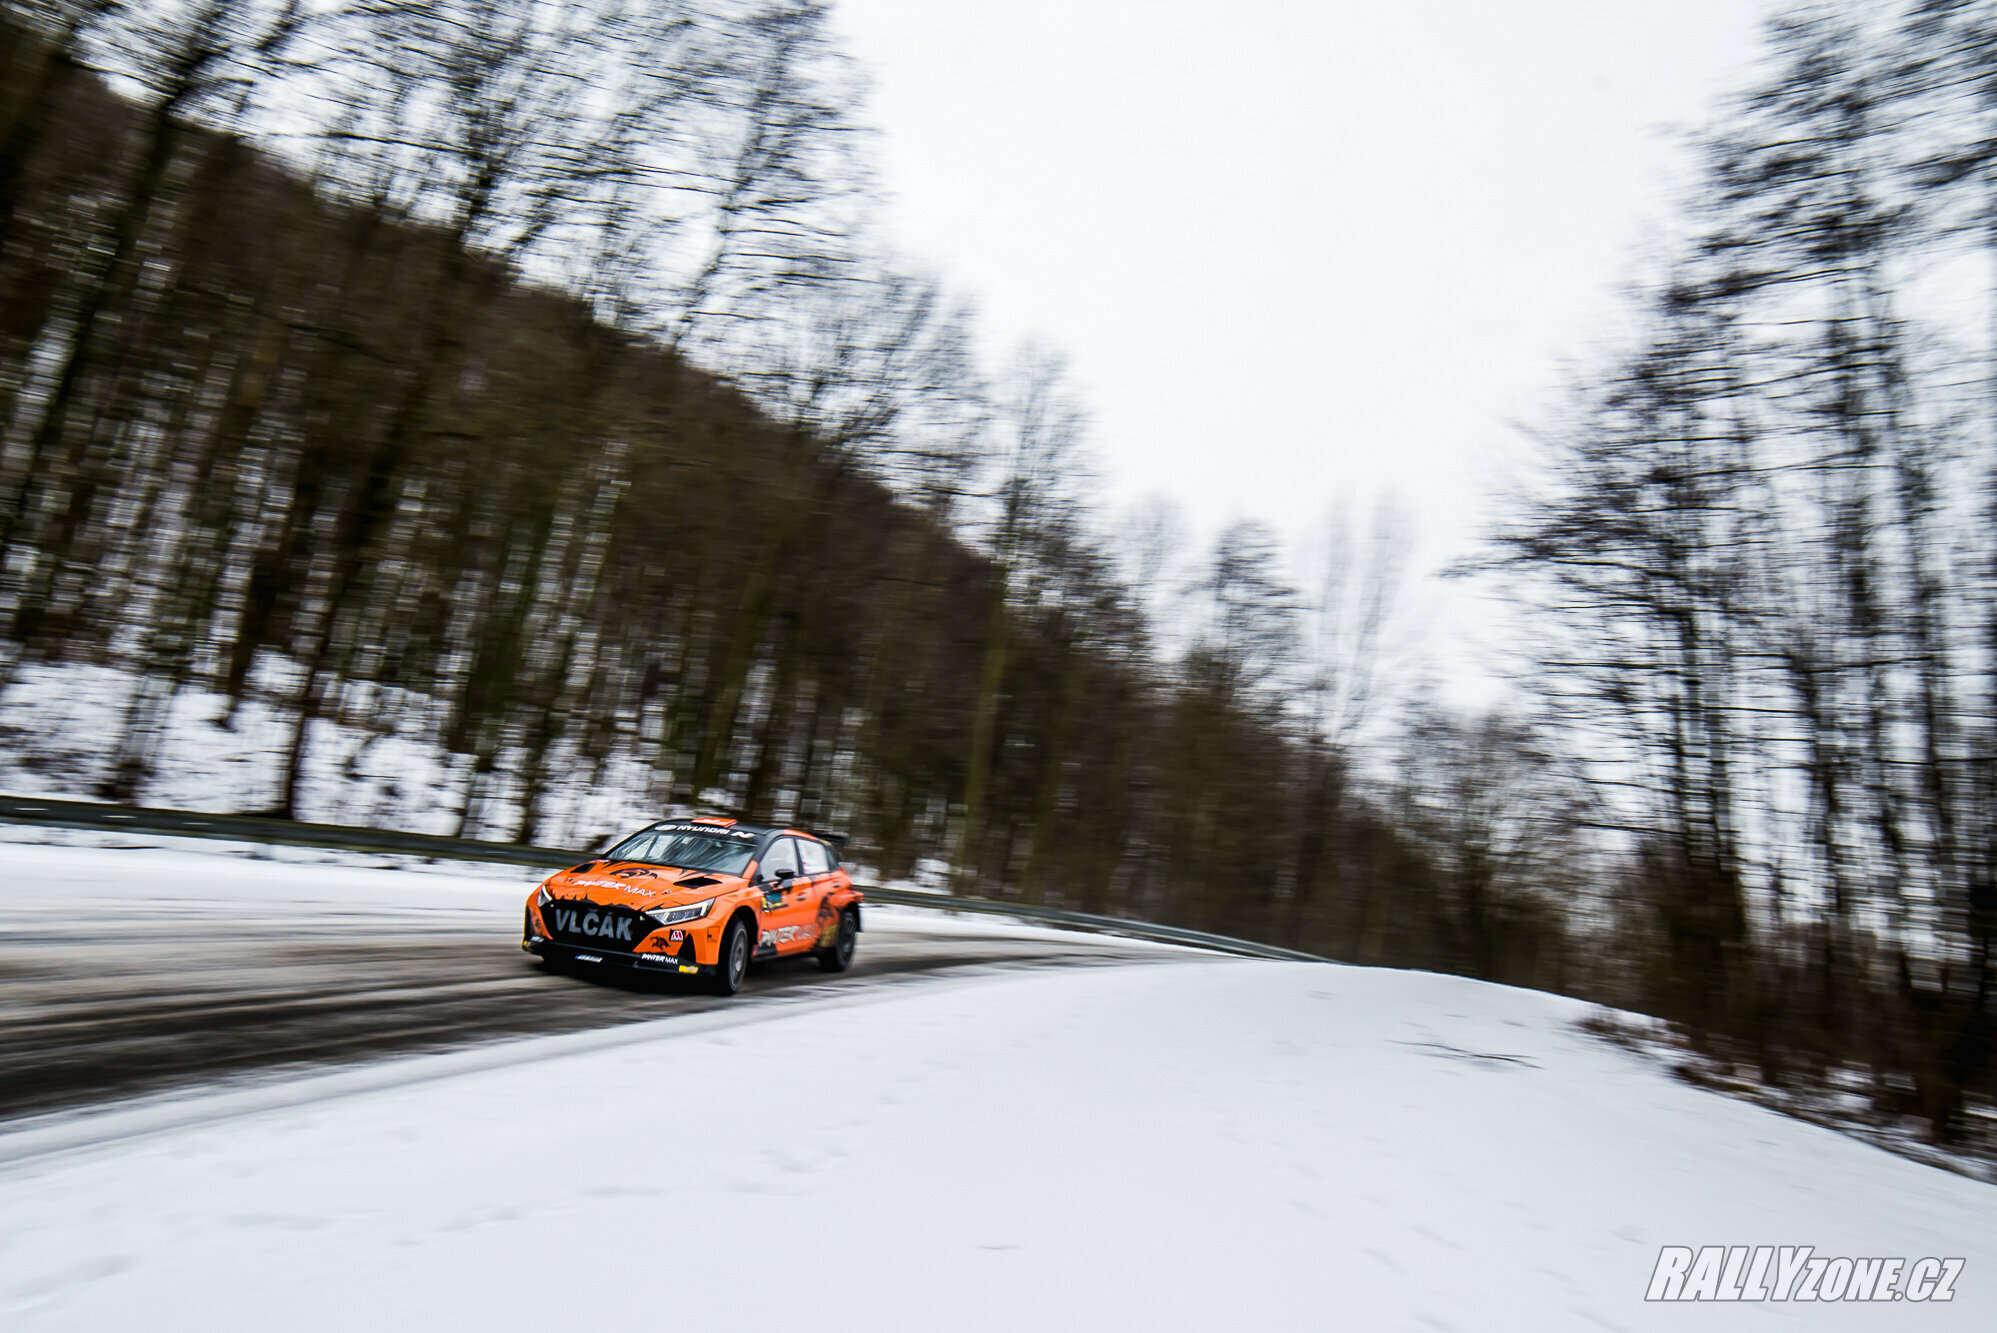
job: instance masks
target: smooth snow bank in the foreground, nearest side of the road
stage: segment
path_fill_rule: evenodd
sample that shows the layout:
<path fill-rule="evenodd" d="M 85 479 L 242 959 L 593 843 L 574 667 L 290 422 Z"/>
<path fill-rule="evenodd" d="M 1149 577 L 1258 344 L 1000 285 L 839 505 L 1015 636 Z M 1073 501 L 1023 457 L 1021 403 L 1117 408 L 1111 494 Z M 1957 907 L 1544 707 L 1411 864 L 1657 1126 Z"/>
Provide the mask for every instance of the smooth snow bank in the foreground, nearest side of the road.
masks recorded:
<path fill-rule="evenodd" d="M 4 1153 L 0 1323 L 1991 1327 L 1989 1185 L 1687 1088 L 1584 1012 L 1186 962 L 324 1076 Z M 1967 1267 L 1945 1307 L 1644 1303 L 1660 1245 L 1727 1243 Z"/>

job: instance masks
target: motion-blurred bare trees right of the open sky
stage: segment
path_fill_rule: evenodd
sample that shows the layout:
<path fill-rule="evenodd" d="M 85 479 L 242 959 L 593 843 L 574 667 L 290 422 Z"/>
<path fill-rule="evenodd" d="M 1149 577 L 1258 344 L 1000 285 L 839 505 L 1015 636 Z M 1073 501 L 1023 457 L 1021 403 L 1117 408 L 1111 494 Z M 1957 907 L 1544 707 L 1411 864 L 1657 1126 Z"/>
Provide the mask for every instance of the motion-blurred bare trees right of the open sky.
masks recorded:
<path fill-rule="evenodd" d="M 1771 26 L 1689 243 L 1502 539 L 1566 627 L 1546 678 L 1626 742 L 1598 780 L 1630 794 L 1626 888 L 1660 950 L 1634 1000 L 1771 1078 L 1859 1062 L 1939 1139 L 1989 1094 L 1997 1032 L 1997 395 L 1929 277 L 1961 275 L 1989 208 L 1993 24 Z"/>

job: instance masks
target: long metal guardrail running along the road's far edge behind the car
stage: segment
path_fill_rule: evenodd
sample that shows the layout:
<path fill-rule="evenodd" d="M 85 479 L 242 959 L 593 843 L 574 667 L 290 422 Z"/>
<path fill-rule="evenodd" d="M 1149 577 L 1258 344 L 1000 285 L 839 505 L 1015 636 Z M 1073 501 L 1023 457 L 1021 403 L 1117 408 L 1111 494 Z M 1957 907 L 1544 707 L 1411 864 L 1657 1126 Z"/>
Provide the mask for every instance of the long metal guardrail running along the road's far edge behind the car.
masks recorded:
<path fill-rule="evenodd" d="M 561 852 L 521 842 L 479 842 L 475 838 L 441 838 L 437 834 L 395 832 L 391 828 L 351 828 L 345 824 L 304 824 L 260 814 L 200 814 L 190 810 L 160 810 L 148 806 L 116 806 L 94 800 L 50 800 L 44 796 L 0 796 L 0 824 L 38 824 L 42 828 L 80 828 L 86 832 L 132 832 L 166 838 L 220 838 L 226 842 L 264 842 L 274 846 L 310 846 L 335 852 L 385 852 L 433 860 L 477 860 L 501 866 L 559 870 L 587 860 L 587 852 Z M 1098 930 L 1160 944 L 1190 944 L 1248 958 L 1278 958 L 1288 962 L 1330 962 L 1316 954 L 1216 936 L 1204 930 L 1134 922 L 1120 916 L 1094 916 L 1064 908 L 1042 908 L 997 898 L 961 898 L 957 894 L 911 894 L 899 888 L 863 884 L 867 902 L 935 912 L 973 912 L 1012 916 L 1078 930 Z"/>

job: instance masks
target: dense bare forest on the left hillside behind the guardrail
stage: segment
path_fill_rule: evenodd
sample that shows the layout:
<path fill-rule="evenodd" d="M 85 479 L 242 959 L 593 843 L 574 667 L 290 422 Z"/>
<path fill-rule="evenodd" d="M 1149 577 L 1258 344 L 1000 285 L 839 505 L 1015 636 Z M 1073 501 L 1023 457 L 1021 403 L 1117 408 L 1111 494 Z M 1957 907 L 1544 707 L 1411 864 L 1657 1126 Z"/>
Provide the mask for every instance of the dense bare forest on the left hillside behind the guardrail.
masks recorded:
<path fill-rule="evenodd" d="M 1392 543 L 1088 503 L 1060 359 L 867 239 L 807 0 L 6 6 L 0 674 L 419 728 L 457 826 L 577 784 L 853 834 L 885 874 L 1572 986 L 1572 788 L 1436 712 L 1366 758 Z M 1172 559 L 1168 559 L 1172 557 Z M 1178 559 L 1182 557 L 1182 559 Z M 1378 766 L 1374 766 L 1378 768 Z M 635 774 L 635 776 L 633 776 Z"/>

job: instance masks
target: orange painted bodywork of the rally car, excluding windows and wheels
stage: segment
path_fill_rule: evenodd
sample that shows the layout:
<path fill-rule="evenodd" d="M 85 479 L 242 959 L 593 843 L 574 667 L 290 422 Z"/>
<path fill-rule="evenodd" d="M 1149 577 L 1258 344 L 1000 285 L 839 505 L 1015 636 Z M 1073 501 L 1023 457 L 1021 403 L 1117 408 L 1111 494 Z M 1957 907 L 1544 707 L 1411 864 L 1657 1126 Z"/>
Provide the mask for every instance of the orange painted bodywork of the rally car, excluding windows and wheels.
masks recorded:
<path fill-rule="evenodd" d="M 717 828 L 733 824 L 667 820 L 653 828 L 695 822 Z M 747 832 L 747 826 L 737 828 Z M 545 946 L 555 946 L 567 954 L 583 950 L 617 962 L 647 964 L 647 970 L 655 966 L 667 974 L 707 972 L 721 960 L 723 934 L 737 914 L 751 918 L 753 956 L 759 960 L 829 948 L 841 914 L 863 900 L 853 876 L 839 864 L 837 850 L 801 828 L 755 828 L 755 860 L 741 874 L 625 860 L 591 860 L 557 870 L 527 896 L 521 948 L 547 952 Z M 767 880 L 763 864 L 773 860 L 779 838 L 825 846 L 833 868 Z M 713 906 L 691 922 L 665 926 L 645 916 L 709 898 Z"/>

